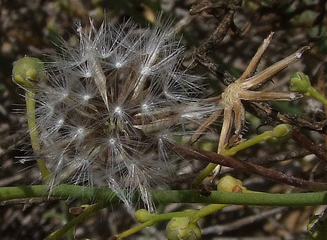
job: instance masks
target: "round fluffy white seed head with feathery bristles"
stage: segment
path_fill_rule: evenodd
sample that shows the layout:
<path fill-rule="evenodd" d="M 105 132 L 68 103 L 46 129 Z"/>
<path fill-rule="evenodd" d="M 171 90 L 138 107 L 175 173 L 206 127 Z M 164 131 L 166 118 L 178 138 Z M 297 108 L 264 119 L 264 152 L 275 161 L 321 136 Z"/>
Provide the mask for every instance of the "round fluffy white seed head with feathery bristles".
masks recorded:
<path fill-rule="evenodd" d="M 159 24 L 162 26 L 159 28 Z M 40 155 L 61 182 L 109 186 L 128 206 L 174 171 L 174 135 L 189 135 L 213 114 L 201 78 L 180 71 L 183 48 L 168 22 L 140 29 L 127 21 L 77 26 L 36 83 Z"/>

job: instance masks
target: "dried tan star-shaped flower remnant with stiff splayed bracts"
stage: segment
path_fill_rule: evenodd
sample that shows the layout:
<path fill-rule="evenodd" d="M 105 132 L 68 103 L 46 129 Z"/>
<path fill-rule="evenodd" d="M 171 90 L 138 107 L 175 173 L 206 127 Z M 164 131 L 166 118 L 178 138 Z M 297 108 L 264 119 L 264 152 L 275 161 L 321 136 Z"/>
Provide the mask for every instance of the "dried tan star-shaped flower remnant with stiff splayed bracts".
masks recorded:
<path fill-rule="evenodd" d="M 247 69 L 238 78 L 231 82 L 221 96 L 216 97 L 217 101 L 220 102 L 222 108 L 217 108 L 215 114 L 207 118 L 205 122 L 198 128 L 197 133 L 192 136 L 190 142 L 194 142 L 200 134 L 215 120 L 218 116 L 224 112 L 223 126 L 219 137 L 218 153 L 222 152 L 226 147 L 226 142 L 231 137 L 231 129 L 234 128 L 236 140 L 242 139 L 242 132 L 245 123 L 245 108 L 243 106 L 242 100 L 248 101 L 293 101 L 299 97 L 301 94 L 293 92 L 267 92 L 267 91 L 257 91 L 257 89 L 262 86 L 270 77 L 275 73 L 283 70 L 290 64 L 299 60 L 302 53 L 309 49 L 309 46 L 304 46 L 298 49 L 293 54 L 279 60 L 277 63 L 268 67 L 262 72 L 257 74 L 255 70 L 260 62 L 262 54 L 268 48 L 274 33 L 271 32 L 270 35 L 263 41 L 261 46 L 258 48 L 257 52 L 250 61 Z M 256 90 L 256 91 L 254 91 Z M 231 139 L 232 139 L 231 138 Z M 236 141 L 236 142 L 237 142 Z"/>

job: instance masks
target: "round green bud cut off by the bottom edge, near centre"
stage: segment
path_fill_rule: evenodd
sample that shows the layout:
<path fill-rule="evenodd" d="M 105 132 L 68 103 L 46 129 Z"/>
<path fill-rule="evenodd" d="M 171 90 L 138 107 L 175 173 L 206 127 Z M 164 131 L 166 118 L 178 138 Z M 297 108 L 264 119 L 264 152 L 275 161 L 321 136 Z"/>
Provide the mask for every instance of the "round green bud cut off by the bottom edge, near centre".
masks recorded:
<path fill-rule="evenodd" d="M 196 222 L 190 222 L 188 216 L 173 217 L 166 227 L 168 240 L 200 240 L 201 229 Z"/>

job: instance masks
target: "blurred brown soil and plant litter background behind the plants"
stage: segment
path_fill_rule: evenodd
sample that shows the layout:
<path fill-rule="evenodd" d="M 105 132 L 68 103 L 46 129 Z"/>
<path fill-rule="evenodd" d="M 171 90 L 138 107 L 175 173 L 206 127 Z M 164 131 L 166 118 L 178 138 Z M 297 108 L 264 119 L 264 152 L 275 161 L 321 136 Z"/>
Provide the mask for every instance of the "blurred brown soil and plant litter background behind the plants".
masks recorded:
<path fill-rule="evenodd" d="M 155 21 L 158 12 L 173 19 L 178 27 L 178 36 L 185 46 L 184 65 L 191 59 L 193 50 L 211 36 L 217 20 L 208 13 L 191 16 L 189 10 L 198 0 L 0 0 L 0 186 L 42 184 L 26 133 L 23 91 L 11 81 L 13 63 L 32 56 L 45 59 L 44 55 L 57 49 L 58 39 L 68 42 L 76 39 L 76 23 L 83 26 L 89 19 L 100 26 L 103 19 L 122 23 L 129 18 L 143 26 Z M 212 1 L 226 3 L 228 1 Z M 323 94 L 326 89 L 327 65 L 327 5 L 326 0 L 243 0 L 234 15 L 235 28 L 209 57 L 211 61 L 237 77 L 244 71 L 263 39 L 275 32 L 272 43 L 265 52 L 258 72 L 293 53 L 302 46 L 311 49 L 300 61 L 278 73 L 265 89 L 287 91 L 291 73 L 303 71 Z M 201 67 L 194 72 L 205 76 L 220 91 L 217 79 Z M 320 77 L 320 76 L 324 77 Z M 272 103 L 280 112 L 307 115 L 317 121 L 325 120 L 323 105 L 304 97 L 296 102 Z M 264 123 L 248 116 L 245 138 L 257 134 Z M 266 128 L 265 128 L 266 127 Z M 315 132 L 306 132 L 313 142 L 325 146 L 325 137 Z M 238 156 L 239 159 L 272 161 L 266 167 L 289 175 L 316 181 L 327 181 L 326 166 L 317 157 L 299 147 L 294 141 L 285 143 L 263 143 Z M 267 160 L 268 159 L 268 160 Z M 269 160 L 270 159 L 270 160 Z M 282 161 L 281 161 L 282 160 Z M 276 163 L 277 162 L 277 163 Z M 188 188 L 195 172 L 204 167 L 201 163 L 190 164 L 180 179 L 186 183 L 176 189 Z M 262 177 L 223 169 L 244 181 L 252 190 L 263 192 L 299 192 L 290 186 L 277 184 Z M 41 240 L 72 217 L 69 207 L 78 207 L 81 202 L 74 199 L 32 199 L 12 201 L 0 205 L 1 240 Z M 170 204 L 158 206 L 158 211 L 177 211 L 199 208 L 200 205 Z M 202 240 L 304 240 L 306 225 L 321 207 L 271 208 L 255 206 L 230 206 L 201 219 Z M 135 224 L 124 206 L 113 205 L 91 216 L 65 239 L 106 240 Z M 160 222 L 128 239 L 164 240 L 166 222 Z"/>

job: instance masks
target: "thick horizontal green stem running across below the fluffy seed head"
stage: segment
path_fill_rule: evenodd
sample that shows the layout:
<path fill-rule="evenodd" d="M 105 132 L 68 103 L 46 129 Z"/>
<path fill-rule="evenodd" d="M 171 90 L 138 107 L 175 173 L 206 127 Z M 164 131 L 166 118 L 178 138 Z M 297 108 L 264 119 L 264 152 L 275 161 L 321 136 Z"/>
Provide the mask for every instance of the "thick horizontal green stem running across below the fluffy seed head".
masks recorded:
<path fill-rule="evenodd" d="M 91 187 L 60 184 L 50 192 L 49 186 L 29 187 L 1 187 L 0 201 L 28 197 L 62 197 L 78 198 L 91 202 L 102 201 L 104 203 L 118 203 L 110 189 L 97 189 Z M 327 192 L 304 192 L 304 193 L 240 193 L 212 191 L 210 196 L 201 196 L 197 192 L 188 190 L 153 191 L 152 197 L 157 203 L 215 203 L 235 205 L 257 206 L 316 206 L 327 204 Z M 136 201 L 137 198 L 135 198 Z"/>

